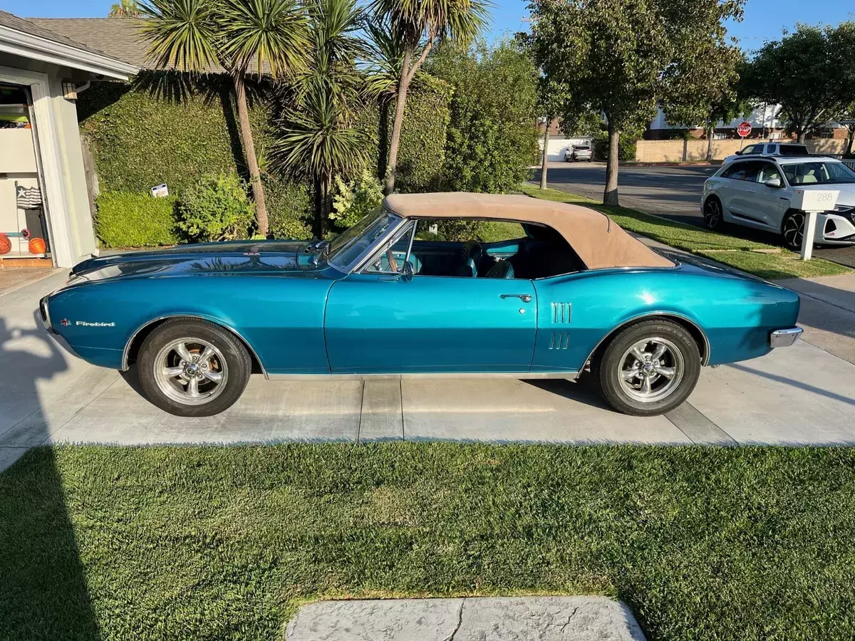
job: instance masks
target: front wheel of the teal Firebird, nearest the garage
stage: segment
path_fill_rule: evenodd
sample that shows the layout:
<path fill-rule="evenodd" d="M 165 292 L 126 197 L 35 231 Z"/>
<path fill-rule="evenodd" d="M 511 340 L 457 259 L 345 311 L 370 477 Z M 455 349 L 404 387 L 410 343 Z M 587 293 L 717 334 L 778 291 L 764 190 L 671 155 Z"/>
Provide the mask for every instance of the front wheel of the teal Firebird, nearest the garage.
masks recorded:
<path fill-rule="evenodd" d="M 139 383 L 157 407 L 176 416 L 228 409 L 249 382 L 252 362 L 232 332 L 207 321 L 166 321 L 139 349 Z"/>

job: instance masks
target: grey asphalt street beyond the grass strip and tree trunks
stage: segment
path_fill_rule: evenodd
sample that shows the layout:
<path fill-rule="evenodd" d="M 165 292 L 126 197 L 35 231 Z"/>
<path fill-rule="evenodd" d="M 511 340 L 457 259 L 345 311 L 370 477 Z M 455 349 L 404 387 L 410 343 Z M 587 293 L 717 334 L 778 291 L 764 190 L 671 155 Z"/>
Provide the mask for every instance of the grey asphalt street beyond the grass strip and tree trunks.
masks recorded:
<path fill-rule="evenodd" d="M 715 173 L 716 169 L 717 167 L 705 166 L 623 166 L 618 176 L 621 204 L 672 221 L 704 226 L 704 217 L 700 213 L 700 197 L 704 181 Z M 549 186 L 555 189 L 602 200 L 605 163 L 550 162 L 546 179 Z M 535 171 L 532 180 L 540 182 L 540 168 Z M 781 244 L 779 236 L 747 227 L 731 225 L 725 233 L 761 243 Z M 827 246 L 827 249 L 814 250 L 813 255 L 855 268 L 855 246 Z"/>

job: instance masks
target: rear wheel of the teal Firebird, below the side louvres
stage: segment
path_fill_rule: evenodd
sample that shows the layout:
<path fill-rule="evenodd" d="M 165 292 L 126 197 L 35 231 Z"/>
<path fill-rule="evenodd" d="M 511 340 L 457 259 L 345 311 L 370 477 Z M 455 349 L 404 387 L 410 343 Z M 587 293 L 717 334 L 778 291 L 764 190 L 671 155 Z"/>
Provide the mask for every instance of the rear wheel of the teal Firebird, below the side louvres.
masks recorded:
<path fill-rule="evenodd" d="M 669 412 L 692 393 L 700 374 L 700 351 L 674 321 L 639 321 L 611 338 L 592 364 L 606 403 L 624 414 Z"/>

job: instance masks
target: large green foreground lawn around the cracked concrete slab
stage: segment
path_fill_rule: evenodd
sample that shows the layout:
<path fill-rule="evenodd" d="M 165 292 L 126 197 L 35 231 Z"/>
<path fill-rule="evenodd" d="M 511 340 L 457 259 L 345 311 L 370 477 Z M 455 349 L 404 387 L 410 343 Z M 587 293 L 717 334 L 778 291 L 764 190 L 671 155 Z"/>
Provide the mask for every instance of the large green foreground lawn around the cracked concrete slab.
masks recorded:
<path fill-rule="evenodd" d="M 61 447 L 0 474 L 0 638 L 282 638 L 327 597 L 605 594 L 651 641 L 852 639 L 855 450 Z"/>

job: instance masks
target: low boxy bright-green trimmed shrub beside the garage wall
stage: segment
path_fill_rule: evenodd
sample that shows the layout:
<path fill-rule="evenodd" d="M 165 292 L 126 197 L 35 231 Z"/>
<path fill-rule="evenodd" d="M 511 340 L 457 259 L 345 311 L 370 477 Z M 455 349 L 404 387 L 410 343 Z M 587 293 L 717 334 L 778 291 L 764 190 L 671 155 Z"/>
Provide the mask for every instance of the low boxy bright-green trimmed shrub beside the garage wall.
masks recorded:
<path fill-rule="evenodd" d="M 95 232 L 105 247 L 177 244 L 175 198 L 106 191 L 97 197 Z"/>

